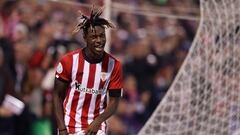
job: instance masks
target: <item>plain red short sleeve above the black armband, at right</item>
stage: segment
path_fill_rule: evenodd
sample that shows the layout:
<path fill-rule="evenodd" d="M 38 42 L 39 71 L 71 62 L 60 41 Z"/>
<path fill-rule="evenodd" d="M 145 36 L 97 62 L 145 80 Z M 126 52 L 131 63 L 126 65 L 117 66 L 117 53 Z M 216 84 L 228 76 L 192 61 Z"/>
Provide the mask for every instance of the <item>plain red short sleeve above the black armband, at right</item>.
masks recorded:
<path fill-rule="evenodd" d="M 109 90 L 122 89 L 123 87 L 122 81 L 123 81 L 122 65 L 120 62 L 117 61 L 111 74 L 108 89 Z"/>

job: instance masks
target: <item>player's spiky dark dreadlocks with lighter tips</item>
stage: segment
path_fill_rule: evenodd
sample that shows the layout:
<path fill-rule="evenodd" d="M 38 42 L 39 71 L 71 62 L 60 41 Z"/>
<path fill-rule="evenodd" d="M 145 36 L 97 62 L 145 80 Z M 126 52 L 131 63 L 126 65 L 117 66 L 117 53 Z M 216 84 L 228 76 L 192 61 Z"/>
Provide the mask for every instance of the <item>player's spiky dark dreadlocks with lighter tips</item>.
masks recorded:
<path fill-rule="evenodd" d="M 92 31 L 94 30 L 94 26 L 102 26 L 104 28 L 115 28 L 115 25 L 110 21 L 101 18 L 101 14 L 103 13 L 103 8 L 95 9 L 92 7 L 90 17 L 84 15 L 81 11 L 79 11 L 80 17 L 78 18 L 79 23 L 75 26 L 73 33 L 79 32 L 83 29 L 84 33 L 87 33 L 88 28 Z"/>

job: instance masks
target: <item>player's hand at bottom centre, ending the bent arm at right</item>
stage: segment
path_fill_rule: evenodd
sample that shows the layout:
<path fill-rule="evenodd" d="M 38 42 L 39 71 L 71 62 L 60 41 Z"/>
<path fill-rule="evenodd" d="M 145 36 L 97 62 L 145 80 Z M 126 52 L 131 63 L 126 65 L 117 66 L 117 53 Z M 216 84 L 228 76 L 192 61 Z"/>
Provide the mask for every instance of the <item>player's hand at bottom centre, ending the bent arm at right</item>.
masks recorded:
<path fill-rule="evenodd" d="M 101 125 L 101 121 L 99 119 L 95 119 L 87 128 L 87 130 L 85 131 L 85 135 L 96 135 L 100 125 Z"/>

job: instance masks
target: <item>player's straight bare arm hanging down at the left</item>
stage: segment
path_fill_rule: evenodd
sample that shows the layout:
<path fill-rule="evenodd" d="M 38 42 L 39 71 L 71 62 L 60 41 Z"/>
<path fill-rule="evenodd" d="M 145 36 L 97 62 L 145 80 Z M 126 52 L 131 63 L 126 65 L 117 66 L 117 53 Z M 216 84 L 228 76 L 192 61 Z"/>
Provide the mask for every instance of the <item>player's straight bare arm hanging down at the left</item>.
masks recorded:
<path fill-rule="evenodd" d="M 59 135 L 68 135 L 67 129 L 64 124 L 63 116 L 63 101 L 65 99 L 65 91 L 67 90 L 68 83 L 63 82 L 55 78 L 54 91 L 53 91 L 53 106 L 54 113 L 57 121 L 57 126 L 59 129 Z"/>

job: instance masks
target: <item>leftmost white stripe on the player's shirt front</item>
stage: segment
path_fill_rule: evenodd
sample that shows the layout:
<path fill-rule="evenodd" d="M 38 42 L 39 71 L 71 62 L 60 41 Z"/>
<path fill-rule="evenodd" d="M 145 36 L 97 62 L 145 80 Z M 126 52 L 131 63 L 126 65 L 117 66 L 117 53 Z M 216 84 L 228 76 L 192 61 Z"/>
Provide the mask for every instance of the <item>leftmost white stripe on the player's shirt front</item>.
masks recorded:
<path fill-rule="evenodd" d="M 79 59 L 79 54 L 74 54 L 73 62 L 72 62 L 72 83 L 74 83 L 75 79 L 76 79 L 77 70 L 78 70 L 78 59 Z M 68 125 L 69 121 L 70 121 L 69 116 L 70 116 L 70 112 L 71 112 L 73 96 L 74 96 L 74 85 L 71 85 L 68 102 L 66 104 L 66 115 L 64 116 L 65 125 Z M 64 102 L 66 102 L 66 101 L 64 101 Z"/>

